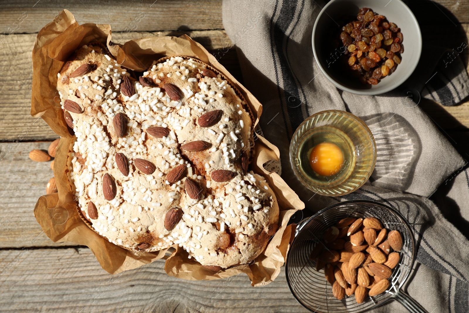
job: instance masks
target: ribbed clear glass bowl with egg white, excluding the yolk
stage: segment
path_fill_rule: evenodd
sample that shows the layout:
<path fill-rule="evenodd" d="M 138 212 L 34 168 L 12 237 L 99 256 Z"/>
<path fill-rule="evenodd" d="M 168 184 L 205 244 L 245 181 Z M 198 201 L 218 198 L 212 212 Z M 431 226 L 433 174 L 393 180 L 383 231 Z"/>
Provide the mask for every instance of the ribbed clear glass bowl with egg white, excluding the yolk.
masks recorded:
<path fill-rule="evenodd" d="M 311 150 L 322 142 L 339 146 L 344 155 L 337 173 L 322 176 L 310 166 Z M 355 115 L 327 110 L 311 115 L 296 129 L 290 143 L 290 162 L 296 178 L 324 196 L 356 191 L 370 178 L 376 163 L 376 143 L 371 130 Z"/>

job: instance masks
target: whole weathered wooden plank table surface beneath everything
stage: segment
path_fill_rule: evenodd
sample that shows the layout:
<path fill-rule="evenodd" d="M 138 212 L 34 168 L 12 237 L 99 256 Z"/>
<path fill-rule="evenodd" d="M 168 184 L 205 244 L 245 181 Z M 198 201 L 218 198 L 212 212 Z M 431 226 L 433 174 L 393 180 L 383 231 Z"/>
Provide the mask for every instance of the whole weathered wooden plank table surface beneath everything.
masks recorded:
<path fill-rule="evenodd" d="M 413 2 L 411 6 L 414 11 L 435 11 L 438 23 L 448 24 L 449 20 L 468 32 L 468 1 L 436 2 L 439 4 L 425 1 L 427 7 Z M 44 235 L 33 208 L 53 173 L 49 162 L 33 162 L 28 153 L 47 149 L 57 136 L 42 119 L 30 116 L 31 51 L 37 32 L 62 8 L 75 14 L 79 23 L 111 24 L 113 35 L 121 42 L 142 36 L 188 34 L 214 53 L 227 51 L 220 62 L 242 80 L 235 48 L 223 30 L 219 0 L 31 0 L 2 4 L 0 30 L 9 35 L 0 35 L 0 311 L 306 312 L 291 295 L 284 271 L 262 288 L 251 288 L 246 275 L 211 282 L 178 280 L 166 275 L 163 261 L 110 275 L 87 247 L 53 243 Z M 142 12 L 144 18 L 132 23 Z M 427 26 L 436 27 L 435 23 Z M 445 31 L 436 29 L 438 33 Z M 454 47 L 461 43 L 447 31 L 445 40 L 454 40 Z M 467 49 L 464 53 L 467 65 Z M 462 154 L 468 152 L 464 138 L 469 130 L 469 102 L 442 107 L 422 100 L 420 106 Z"/>

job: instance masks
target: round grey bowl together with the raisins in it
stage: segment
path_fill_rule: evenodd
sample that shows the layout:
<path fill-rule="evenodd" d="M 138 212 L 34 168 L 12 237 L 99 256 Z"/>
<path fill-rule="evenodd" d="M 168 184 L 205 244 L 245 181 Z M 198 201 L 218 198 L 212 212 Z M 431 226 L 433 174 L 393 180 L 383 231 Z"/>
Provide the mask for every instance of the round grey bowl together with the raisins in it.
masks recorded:
<path fill-rule="evenodd" d="M 401 0 L 331 0 L 316 19 L 312 46 L 320 70 L 336 87 L 376 95 L 412 74 L 422 35 Z"/>

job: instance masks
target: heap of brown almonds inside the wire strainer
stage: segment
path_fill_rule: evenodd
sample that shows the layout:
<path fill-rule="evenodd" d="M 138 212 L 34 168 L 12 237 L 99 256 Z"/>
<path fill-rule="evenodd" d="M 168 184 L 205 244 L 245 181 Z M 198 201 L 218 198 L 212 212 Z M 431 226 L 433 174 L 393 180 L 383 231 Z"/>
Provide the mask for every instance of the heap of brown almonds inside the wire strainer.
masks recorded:
<path fill-rule="evenodd" d="M 324 268 L 335 298 L 342 300 L 355 294 L 357 303 L 383 293 L 397 266 L 402 249 L 402 236 L 388 230 L 374 217 L 347 217 L 329 227 L 324 243 L 310 253 L 316 270 Z"/>

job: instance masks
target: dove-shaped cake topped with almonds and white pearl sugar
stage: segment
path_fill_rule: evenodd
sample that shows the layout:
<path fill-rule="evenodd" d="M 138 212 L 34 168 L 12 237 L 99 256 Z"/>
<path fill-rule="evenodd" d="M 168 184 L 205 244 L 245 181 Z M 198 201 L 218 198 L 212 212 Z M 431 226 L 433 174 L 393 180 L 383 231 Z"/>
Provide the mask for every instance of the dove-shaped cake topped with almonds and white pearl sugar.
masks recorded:
<path fill-rule="evenodd" d="M 179 244 L 227 268 L 254 260 L 277 230 L 264 177 L 248 172 L 252 121 L 229 82 L 171 57 L 138 77 L 83 46 L 58 74 L 75 131 L 68 178 L 83 216 L 129 249 Z"/>

